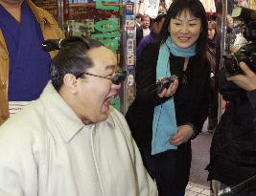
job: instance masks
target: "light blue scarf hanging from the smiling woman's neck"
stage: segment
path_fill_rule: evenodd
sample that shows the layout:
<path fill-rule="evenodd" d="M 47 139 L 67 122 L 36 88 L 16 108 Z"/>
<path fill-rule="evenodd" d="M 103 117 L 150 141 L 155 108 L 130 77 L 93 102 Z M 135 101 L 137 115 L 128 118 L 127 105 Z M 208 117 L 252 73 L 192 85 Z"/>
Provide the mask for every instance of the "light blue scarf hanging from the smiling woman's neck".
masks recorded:
<path fill-rule="evenodd" d="M 164 44 L 161 45 L 157 66 L 156 79 L 159 77 L 171 76 L 170 72 L 170 53 L 175 56 L 190 57 L 196 54 L 196 45 L 182 49 L 175 45 L 169 36 Z M 175 145 L 170 144 L 169 139 L 177 132 L 175 118 L 175 102 L 174 97 L 168 99 L 161 105 L 154 107 L 153 122 L 152 122 L 152 141 L 151 154 L 165 152 L 169 149 L 176 149 Z"/>

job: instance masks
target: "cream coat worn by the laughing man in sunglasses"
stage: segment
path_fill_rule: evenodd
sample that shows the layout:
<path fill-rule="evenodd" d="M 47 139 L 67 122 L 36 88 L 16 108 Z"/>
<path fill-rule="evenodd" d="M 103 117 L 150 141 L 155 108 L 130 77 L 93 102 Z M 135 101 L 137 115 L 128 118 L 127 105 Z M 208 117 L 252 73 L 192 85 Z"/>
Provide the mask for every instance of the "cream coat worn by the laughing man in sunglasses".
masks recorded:
<path fill-rule="evenodd" d="M 0 127 L 2 196 L 156 196 L 123 115 L 84 125 L 48 83 Z"/>

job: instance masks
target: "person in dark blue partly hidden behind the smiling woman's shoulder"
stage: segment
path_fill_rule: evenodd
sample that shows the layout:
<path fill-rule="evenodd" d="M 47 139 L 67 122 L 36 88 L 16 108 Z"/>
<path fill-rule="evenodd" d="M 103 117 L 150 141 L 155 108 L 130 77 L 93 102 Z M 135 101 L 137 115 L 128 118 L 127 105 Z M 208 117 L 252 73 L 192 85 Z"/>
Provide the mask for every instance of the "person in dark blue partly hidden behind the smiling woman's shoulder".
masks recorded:
<path fill-rule="evenodd" d="M 137 47 L 137 58 L 139 58 L 140 54 L 143 52 L 144 48 L 150 43 L 156 41 L 157 35 L 160 33 L 162 26 L 164 24 L 166 17 L 166 13 L 159 13 L 155 19 L 153 20 L 153 29 L 151 33 L 140 41 Z"/>

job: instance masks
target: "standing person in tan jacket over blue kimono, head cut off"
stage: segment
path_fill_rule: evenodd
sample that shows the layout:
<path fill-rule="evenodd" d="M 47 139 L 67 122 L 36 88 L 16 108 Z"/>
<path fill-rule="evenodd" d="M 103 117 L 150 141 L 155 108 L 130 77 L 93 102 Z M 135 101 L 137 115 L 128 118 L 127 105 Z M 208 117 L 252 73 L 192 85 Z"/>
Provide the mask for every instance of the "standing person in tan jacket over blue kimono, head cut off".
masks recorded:
<path fill-rule="evenodd" d="M 42 42 L 63 37 L 54 17 L 31 0 L 0 0 L 0 124 L 10 116 L 9 101 L 39 97 L 57 54 L 44 52 Z"/>

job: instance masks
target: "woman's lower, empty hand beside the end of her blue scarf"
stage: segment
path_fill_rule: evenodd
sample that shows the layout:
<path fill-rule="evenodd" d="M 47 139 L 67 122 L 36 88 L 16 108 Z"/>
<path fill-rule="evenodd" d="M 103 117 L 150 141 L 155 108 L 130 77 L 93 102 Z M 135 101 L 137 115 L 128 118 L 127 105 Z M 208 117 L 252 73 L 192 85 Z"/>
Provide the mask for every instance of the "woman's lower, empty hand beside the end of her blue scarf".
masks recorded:
<path fill-rule="evenodd" d="M 172 145 L 180 145 L 183 142 L 188 142 L 193 136 L 194 130 L 190 125 L 181 125 L 177 127 L 177 133 L 169 139 Z"/>

